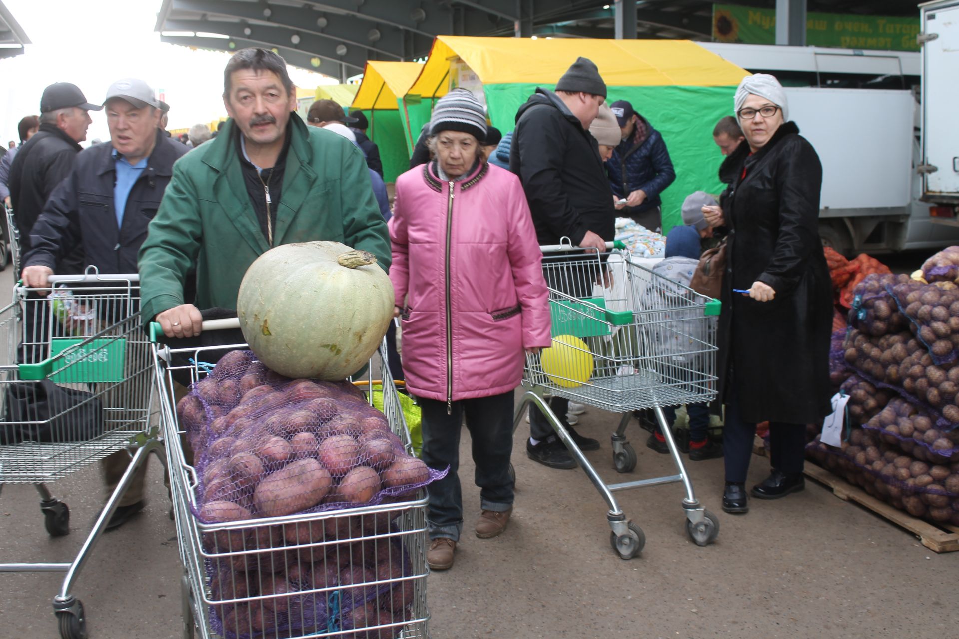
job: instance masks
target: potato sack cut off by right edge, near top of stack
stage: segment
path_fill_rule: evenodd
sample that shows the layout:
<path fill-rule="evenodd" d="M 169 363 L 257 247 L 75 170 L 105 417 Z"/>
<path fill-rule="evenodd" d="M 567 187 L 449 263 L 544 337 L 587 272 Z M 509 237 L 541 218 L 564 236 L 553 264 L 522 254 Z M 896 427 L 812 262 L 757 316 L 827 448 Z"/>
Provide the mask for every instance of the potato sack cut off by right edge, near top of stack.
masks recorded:
<path fill-rule="evenodd" d="M 916 280 L 891 287 L 893 298 L 910 321 L 910 330 L 936 364 L 950 364 L 959 354 L 959 286 Z"/>

